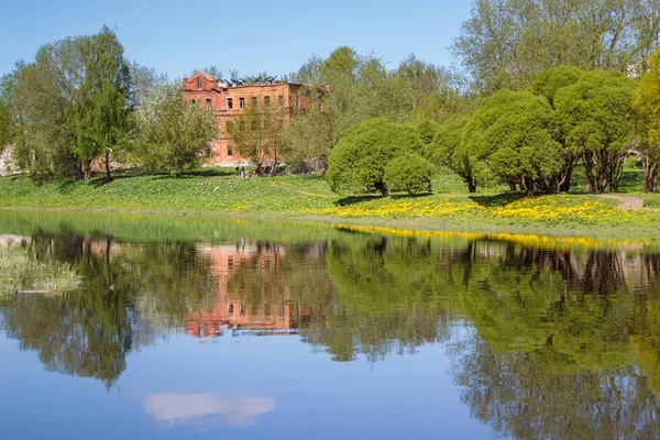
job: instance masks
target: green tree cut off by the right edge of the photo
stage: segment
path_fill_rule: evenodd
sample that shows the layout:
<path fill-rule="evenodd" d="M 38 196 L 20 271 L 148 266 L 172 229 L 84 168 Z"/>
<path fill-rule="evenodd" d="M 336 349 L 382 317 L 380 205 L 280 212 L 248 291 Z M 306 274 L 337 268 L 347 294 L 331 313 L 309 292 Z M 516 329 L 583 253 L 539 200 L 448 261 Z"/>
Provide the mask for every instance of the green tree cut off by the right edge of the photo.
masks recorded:
<path fill-rule="evenodd" d="M 644 169 L 644 190 L 658 189 L 658 167 L 660 166 L 660 50 L 650 58 L 650 69 L 642 74 L 632 110 L 639 142 L 636 153 Z"/>

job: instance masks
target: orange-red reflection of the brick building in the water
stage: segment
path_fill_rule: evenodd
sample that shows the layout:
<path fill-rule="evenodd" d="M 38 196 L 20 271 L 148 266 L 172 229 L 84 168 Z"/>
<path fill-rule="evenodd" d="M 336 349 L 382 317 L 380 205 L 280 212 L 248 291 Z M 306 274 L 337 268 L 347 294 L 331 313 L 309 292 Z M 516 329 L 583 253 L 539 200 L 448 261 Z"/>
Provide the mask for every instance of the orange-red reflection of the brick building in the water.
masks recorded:
<path fill-rule="evenodd" d="M 217 337 L 223 330 L 289 333 L 315 312 L 315 307 L 292 301 L 279 273 L 285 256 L 277 244 L 199 246 L 211 260 L 219 289 L 211 307 L 186 319 L 186 332 L 196 338 Z"/>

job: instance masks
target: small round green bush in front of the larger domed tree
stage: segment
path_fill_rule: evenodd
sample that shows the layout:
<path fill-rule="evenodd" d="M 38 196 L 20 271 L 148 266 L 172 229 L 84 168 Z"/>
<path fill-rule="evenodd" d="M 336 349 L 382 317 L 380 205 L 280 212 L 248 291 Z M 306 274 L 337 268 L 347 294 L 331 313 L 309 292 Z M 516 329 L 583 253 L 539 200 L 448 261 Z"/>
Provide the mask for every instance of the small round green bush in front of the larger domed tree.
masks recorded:
<path fill-rule="evenodd" d="M 392 160 L 385 167 L 385 184 L 394 191 L 416 194 L 431 190 L 433 165 L 419 154 Z"/>

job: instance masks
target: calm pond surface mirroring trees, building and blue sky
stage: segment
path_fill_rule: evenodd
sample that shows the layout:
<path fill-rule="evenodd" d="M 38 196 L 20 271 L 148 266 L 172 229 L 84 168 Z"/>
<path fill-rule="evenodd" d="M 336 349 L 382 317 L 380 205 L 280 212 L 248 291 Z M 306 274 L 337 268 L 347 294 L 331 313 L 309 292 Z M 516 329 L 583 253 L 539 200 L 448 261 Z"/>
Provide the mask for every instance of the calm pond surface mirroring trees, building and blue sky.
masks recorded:
<path fill-rule="evenodd" d="M 0 211 L 2 439 L 659 438 L 644 243 Z"/>

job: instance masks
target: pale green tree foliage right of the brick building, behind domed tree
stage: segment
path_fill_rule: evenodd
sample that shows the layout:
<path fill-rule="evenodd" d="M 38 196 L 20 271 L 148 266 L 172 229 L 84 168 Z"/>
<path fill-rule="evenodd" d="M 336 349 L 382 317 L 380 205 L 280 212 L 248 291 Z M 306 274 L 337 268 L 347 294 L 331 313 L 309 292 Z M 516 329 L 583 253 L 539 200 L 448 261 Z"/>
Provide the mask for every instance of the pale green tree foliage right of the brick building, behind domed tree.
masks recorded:
<path fill-rule="evenodd" d="M 326 86 L 305 91 L 319 105 L 294 114 L 288 129 L 292 162 L 321 172 L 332 148 L 360 122 L 441 121 L 468 106 L 457 74 L 415 55 L 388 70 L 381 58 L 341 46 L 328 58 L 311 57 L 292 79 Z"/>

